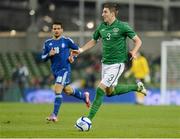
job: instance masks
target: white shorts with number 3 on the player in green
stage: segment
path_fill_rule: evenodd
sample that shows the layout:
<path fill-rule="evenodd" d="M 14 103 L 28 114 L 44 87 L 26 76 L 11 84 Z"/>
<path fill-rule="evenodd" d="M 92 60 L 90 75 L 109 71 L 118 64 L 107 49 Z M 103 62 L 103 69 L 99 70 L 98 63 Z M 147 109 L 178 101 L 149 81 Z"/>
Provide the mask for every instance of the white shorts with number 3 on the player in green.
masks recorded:
<path fill-rule="evenodd" d="M 118 79 L 124 71 L 125 64 L 118 63 L 112 65 L 102 64 L 101 83 L 107 87 L 116 86 Z"/>

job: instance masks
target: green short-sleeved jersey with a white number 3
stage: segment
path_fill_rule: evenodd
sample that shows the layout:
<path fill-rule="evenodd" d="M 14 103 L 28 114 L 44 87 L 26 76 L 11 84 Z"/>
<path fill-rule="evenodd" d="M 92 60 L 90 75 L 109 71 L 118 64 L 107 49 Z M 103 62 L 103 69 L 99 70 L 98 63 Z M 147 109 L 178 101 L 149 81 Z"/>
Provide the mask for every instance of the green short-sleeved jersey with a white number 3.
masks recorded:
<path fill-rule="evenodd" d="M 124 63 L 128 58 L 126 38 L 132 39 L 136 33 L 125 22 L 115 20 L 111 25 L 101 23 L 93 34 L 93 39 L 102 38 L 102 62 L 104 64 Z"/>

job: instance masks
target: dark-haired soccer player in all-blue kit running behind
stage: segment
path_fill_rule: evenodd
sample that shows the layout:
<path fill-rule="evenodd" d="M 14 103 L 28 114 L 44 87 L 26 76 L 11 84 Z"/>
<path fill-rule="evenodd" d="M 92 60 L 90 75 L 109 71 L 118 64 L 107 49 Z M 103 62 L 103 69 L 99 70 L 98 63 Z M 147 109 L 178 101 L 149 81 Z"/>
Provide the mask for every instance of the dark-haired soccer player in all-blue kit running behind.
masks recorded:
<path fill-rule="evenodd" d="M 62 91 L 68 95 L 72 95 L 83 100 L 86 106 L 90 107 L 89 93 L 82 93 L 76 88 L 72 88 L 70 84 L 71 66 L 74 57 L 70 55 L 71 50 L 78 50 L 78 46 L 70 38 L 62 36 L 63 25 L 60 22 L 54 22 L 52 25 L 53 37 L 45 41 L 41 59 L 51 61 L 51 71 L 55 78 L 55 100 L 54 110 L 48 121 L 57 122 L 58 112 L 62 103 Z"/>

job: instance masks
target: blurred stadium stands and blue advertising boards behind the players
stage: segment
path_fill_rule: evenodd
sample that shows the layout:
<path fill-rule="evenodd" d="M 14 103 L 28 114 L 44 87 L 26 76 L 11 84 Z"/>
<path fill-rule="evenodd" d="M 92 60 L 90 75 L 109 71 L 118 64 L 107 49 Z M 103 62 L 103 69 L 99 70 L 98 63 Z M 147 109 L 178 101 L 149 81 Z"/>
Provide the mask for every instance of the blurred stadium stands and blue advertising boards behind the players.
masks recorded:
<path fill-rule="evenodd" d="M 43 41 L 51 37 L 51 23 L 60 20 L 64 35 L 81 46 L 100 23 L 102 4 L 107 1 L 119 3 L 118 18 L 129 22 L 142 38 L 141 52 L 148 59 L 151 71 L 145 103 L 160 104 L 161 43 L 180 38 L 179 0 L 1 0 L 0 101 L 52 102 L 50 63 L 38 59 Z M 132 44 L 128 44 L 131 48 Z M 72 85 L 90 90 L 91 97 L 100 79 L 100 45 L 81 55 L 72 65 Z M 19 64 L 24 75 L 17 75 Z M 134 81 L 133 76 L 120 80 Z M 176 86 L 168 98 L 170 104 L 180 104 L 178 92 Z M 64 100 L 75 101 L 66 96 Z M 135 103 L 135 96 L 131 93 L 105 101 Z"/>

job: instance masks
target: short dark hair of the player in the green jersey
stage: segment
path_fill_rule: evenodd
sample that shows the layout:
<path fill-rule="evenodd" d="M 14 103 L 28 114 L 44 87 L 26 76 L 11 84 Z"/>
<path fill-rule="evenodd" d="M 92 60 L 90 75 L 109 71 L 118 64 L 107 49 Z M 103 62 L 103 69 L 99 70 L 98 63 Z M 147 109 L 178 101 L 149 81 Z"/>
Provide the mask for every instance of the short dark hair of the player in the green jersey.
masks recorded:
<path fill-rule="evenodd" d="M 115 16 L 118 15 L 119 5 L 117 3 L 104 3 L 103 8 L 108 8 L 110 12 L 114 12 Z"/>

